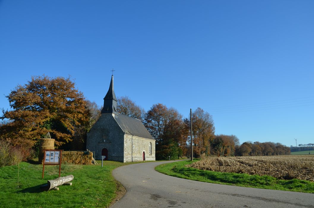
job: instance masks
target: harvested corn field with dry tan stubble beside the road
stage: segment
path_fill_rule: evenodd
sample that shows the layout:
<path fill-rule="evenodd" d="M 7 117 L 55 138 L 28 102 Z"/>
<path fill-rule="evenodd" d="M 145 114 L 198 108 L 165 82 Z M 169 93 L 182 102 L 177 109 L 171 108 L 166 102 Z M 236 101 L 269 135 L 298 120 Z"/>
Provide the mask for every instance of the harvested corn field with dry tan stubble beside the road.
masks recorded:
<path fill-rule="evenodd" d="M 211 157 L 187 167 L 314 181 L 314 156 Z"/>

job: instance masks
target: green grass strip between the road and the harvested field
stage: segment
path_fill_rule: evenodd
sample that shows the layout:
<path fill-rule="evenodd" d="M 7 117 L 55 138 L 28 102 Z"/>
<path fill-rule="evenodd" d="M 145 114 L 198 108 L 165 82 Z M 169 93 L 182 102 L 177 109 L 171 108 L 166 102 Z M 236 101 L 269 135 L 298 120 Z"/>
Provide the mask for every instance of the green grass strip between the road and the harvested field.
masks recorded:
<path fill-rule="evenodd" d="M 197 161 L 197 160 L 194 160 Z M 274 189 L 314 193 L 314 182 L 292 179 L 279 180 L 271 176 L 258 176 L 242 173 L 214 172 L 185 167 L 191 161 L 166 163 L 155 168 L 166 175 L 208 183 L 219 183 L 261 189 Z"/>

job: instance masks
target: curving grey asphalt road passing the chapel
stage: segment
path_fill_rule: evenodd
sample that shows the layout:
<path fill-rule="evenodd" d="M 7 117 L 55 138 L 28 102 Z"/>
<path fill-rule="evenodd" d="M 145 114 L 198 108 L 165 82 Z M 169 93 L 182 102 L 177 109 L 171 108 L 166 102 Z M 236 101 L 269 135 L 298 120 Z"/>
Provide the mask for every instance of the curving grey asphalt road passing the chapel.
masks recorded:
<path fill-rule="evenodd" d="M 191 181 L 154 170 L 166 162 L 138 163 L 113 170 L 127 193 L 111 207 L 314 207 L 314 194 Z"/>

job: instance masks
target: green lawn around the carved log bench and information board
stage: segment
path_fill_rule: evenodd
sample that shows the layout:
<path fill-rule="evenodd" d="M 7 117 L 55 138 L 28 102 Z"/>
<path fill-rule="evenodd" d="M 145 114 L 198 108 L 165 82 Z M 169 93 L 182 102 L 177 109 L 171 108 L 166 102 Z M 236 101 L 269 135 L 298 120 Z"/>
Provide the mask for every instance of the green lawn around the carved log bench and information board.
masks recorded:
<path fill-rule="evenodd" d="M 116 182 L 111 171 L 125 163 L 104 161 L 100 165 L 62 165 L 61 176 L 73 175 L 72 186 L 42 192 L 40 186 L 59 175 L 59 166 L 45 166 L 27 162 L 0 168 L 1 207 L 107 207 L 115 198 Z"/>

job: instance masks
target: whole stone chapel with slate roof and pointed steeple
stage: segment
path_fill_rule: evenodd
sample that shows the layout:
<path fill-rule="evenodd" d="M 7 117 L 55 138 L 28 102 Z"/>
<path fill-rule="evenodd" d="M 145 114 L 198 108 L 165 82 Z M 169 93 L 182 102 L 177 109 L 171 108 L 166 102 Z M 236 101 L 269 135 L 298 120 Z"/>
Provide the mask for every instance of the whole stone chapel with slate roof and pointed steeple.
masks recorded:
<path fill-rule="evenodd" d="M 116 111 L 113 75 L 104 97 L 101 116 L 87 134 L 86 149 L 95 151 L 94 158 L 120 162 L 154 161 L 155 139 L 141 120 Z"/>

